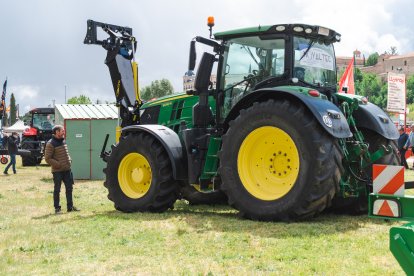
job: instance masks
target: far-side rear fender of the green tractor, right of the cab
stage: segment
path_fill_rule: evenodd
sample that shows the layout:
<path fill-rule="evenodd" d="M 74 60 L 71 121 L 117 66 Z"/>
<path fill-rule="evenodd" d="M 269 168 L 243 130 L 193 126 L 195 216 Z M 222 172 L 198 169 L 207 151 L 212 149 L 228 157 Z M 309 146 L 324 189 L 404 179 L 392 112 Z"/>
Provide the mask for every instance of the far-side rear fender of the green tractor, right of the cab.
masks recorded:
<path fill-rule="evenodd" d="M 372 103 L 360 104 L 353 116 L 358 128 L 372 130 L 386 139 L 396 140 L 400 137 L 390 117 L 381 108 Z"/>

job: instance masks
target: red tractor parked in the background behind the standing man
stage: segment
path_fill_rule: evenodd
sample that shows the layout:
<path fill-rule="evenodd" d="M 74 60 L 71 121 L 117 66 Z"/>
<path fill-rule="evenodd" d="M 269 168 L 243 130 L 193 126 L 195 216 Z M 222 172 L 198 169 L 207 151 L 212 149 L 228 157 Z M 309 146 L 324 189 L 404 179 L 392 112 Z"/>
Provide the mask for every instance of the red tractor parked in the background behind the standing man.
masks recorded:
<path fill-rule="evenodd" d="M 23 132 L 21 148 L 29 150 L 31 154 L 22 156 L 23 166 L 36 166 L 42 162 L 45 145 L 52 138 L 55 124 L 54 108 L 35 108 L 30 114 L 30 128 Z"/>

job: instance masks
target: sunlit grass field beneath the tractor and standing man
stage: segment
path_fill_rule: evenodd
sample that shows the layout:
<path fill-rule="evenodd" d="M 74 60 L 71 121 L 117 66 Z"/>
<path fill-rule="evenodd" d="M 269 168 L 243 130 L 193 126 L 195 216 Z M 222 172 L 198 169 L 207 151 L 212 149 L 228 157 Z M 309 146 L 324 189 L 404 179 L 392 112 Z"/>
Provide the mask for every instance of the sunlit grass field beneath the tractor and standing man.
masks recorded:
<path fill-rule="evenodd" d="M 388 249 L 399 222 L 325 214 L 264 223 L 183 201 L 163 214 L 124 214 L 102 181 L 76 181 L 81 212 L 54 215 L 50 168 L 17 170 L 0 176 L 2 275 L 404 275 Z"/>

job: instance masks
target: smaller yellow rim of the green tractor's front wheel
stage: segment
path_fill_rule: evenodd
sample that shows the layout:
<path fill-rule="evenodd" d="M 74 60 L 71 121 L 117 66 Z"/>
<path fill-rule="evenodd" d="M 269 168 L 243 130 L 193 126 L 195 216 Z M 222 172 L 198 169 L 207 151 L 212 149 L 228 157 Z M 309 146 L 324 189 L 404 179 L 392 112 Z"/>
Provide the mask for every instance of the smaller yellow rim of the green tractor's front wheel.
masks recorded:
<path fill-rule="evenodd" d="M 141 198 L 151 186 L 152 173 L 148 160 L 139 153 L 126 155 L 118 168 L 118 182 L 122 192 L 130 198 Z"/>

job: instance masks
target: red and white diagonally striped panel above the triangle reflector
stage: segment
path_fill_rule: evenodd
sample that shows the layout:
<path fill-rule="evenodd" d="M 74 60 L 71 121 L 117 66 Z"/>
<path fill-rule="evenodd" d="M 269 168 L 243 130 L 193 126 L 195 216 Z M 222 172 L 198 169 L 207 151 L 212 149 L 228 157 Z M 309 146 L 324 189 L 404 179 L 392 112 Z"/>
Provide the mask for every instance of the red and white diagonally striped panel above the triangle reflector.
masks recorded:
<path fill-rule="evenodd" d="M 404 167 L 390 165 L 373 165 L 372 179 L 374 194 L 404 196 Z"/>

